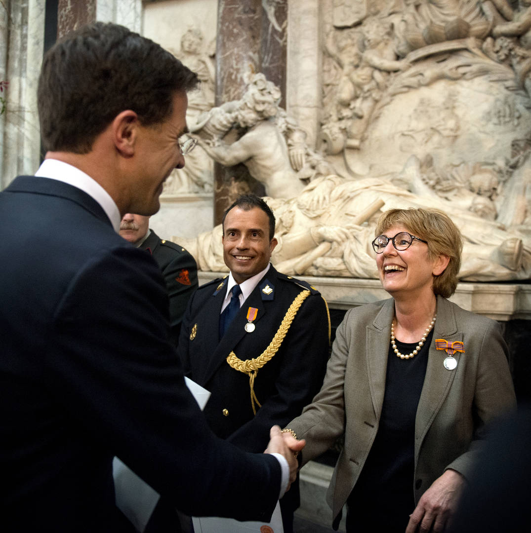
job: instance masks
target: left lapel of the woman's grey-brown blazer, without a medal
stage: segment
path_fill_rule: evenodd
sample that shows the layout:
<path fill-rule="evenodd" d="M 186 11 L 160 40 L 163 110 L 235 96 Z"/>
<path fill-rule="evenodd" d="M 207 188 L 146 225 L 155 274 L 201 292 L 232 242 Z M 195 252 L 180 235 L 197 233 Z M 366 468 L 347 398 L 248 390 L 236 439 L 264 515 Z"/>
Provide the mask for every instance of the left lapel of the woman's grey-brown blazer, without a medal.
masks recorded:
<path fill-rule="evenodd" d="M 394 316 L 394 300 L 386 300 L 376 315 L 373 324 L 366 329 L 366 358 L 369 388 L 376 419 L 382 414 L 387 373 L 387 354 Z"/>

